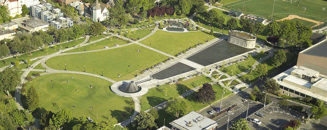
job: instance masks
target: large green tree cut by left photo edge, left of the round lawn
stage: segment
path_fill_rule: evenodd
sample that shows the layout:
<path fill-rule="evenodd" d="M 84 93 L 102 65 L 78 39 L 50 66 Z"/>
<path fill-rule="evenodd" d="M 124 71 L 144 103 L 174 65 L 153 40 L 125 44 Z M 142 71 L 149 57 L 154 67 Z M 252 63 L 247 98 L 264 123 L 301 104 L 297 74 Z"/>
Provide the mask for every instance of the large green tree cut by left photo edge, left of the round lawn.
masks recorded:
<path fill-rule="evenodd" d="M 0 72 L 0 90 L 7 91 L 9 96 L 9 91 L 14 91 L 16 86 L 21 83 L 19 69 L 5 68 Z"/>

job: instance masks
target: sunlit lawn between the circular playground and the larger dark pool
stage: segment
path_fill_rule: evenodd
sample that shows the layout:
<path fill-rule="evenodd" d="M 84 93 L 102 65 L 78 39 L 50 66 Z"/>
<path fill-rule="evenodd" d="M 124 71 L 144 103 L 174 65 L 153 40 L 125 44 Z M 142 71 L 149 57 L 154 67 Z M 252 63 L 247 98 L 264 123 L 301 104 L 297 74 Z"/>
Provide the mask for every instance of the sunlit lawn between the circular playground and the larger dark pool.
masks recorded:
<path fill-rule="evenodd" d="M 150 37 L 140 41 L 140 43 L 167 54 L 176 55 L 180 52 L 180 49 L 184 51 L 188 49 L 189 46 L 197 45 L 198 42 L 206 43 L 208 36 L 209 41 L 215 38 L 215 36 L 211 36 L 205 31 L 173 33 L 158 30 Z"/>

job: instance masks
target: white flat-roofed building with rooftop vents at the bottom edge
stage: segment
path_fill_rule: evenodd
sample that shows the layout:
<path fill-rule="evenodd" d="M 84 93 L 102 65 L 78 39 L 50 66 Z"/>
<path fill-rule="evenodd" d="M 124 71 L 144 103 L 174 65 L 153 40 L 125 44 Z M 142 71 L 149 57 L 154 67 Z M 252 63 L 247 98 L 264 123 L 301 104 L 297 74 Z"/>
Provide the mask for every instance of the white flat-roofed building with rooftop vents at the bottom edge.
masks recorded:
<path fill-rule="evenodd" d="M 169 123 L 172 130 L 216 130 L 219 123 L 204 115 L 191 111 Z"/>

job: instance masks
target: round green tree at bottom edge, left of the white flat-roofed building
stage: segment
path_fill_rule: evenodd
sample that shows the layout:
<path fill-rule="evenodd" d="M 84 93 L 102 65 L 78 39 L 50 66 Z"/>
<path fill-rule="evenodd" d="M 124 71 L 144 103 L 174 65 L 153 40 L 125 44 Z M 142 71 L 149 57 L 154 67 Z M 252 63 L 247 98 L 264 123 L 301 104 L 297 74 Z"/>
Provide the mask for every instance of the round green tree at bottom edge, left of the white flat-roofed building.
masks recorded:
<path fill-rule="evenodd" d="M 157 129 L 157 124 L 154 123 L 154 118 L 150 113 L 140 112 L 134 117 L 133 127 L 137 130 Z"/>

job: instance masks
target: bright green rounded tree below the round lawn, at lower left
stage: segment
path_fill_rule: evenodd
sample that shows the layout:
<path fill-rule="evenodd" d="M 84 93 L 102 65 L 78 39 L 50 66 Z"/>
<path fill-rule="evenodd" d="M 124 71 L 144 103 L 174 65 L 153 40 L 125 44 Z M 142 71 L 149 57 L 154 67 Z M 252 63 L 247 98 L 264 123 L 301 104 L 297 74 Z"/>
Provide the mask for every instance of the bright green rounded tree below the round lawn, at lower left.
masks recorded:
<path fill-rule="evenodd" d="M 51 120 L 49 120 L 49 124 L 59 128 L 64 123 L 69 123 L 73 120 L 72 111 L 69 109 L 63 109 L 57 112 L 56 115 L 53 115 Z"/>

